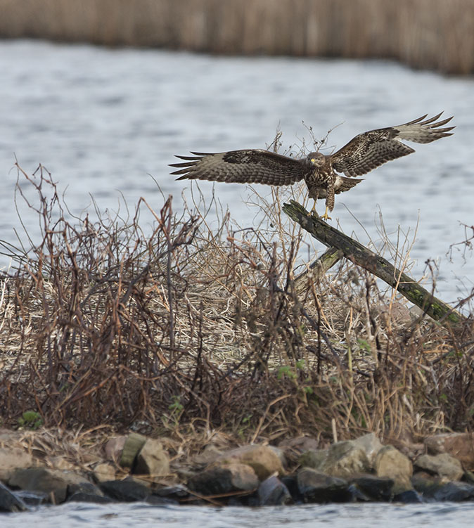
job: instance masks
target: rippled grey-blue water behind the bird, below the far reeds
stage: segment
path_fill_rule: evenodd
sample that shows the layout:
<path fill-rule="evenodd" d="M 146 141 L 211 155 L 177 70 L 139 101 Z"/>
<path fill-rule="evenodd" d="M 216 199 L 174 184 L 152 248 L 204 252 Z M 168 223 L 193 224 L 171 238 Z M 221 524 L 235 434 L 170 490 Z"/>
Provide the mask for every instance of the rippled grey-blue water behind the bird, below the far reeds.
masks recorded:
<path fill-rule="evenodd" d="M 283 149 L 299 150 L 303 139 L 311 141 L 307 127 L 321 138 L 341 124 L 330 135 L 331 148 L 361 131 L 445 110 L 455 115 L 456 134 L 418 145 L 415 154 L 368 174 L 336 197 L 333 222 L 338 219 L 346 233 L 354 231 L 366 243 L 380 238 L 381 212 L 396 243 L 397 228 L 412 240 L 419 219 L 411 251 L 414 276 L 421 278 L 427 259 L 441 259 L 438 291 L 444 300 L 464 297 L 473 287 L 472 259 L 465 263 L 461 252 L 454 262 L 446 257 L 449 245 L 464 238 L 460 223 L 474 224 L 470 77 L 374 61 L 225 58 L 39 41 L 1 41 L 0 71 L 3 240 L 15 241 L 13 230 L 20 229 L 15 156 L 29 173 L 41 162 L 75 214 L 89 207 L 94 215 L 89 194 L 101 211 L 117 210 L 121 195 L 132 209 L 144 196 L 159 210 L 163 198 L 153 179 L 164 195 L 174 195 L 179 209 L 181 191 L 190 183 L 169 176 L 174 154 L 262 148 L 278 125 Z M 209 198 L 212 183 L 200 188 Z M 243 226 L 252 224 L 247 188 L 221 183 L 215 195 Z M 38 240 L 37 217 L 21 200 L 18 205 Z"/>

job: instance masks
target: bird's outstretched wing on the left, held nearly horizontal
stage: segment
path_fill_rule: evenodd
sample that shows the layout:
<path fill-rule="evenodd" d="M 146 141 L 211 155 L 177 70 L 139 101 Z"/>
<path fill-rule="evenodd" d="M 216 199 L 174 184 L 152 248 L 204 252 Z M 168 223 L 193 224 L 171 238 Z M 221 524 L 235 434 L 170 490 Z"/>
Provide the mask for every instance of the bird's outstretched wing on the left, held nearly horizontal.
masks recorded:
<path fill-rule="evenodd" d="M 267 150 L 231 150 L 215 154 L 193 152 L 194 156 L 177 156 L 184 163 L 171 174 L 183 174 L 182 179 L 225 181 L 226 183 L 267 183 L 290 185 L 305 177 L 299 160 L 274 154 Z"/>

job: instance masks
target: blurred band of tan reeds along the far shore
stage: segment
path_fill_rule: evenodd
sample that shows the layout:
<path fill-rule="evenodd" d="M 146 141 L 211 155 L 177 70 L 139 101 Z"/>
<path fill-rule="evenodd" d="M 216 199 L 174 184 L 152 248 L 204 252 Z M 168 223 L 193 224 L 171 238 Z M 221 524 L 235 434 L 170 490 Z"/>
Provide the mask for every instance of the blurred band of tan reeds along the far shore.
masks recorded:
<path fill-rule="evenodd" d="M 0 0 L 0 36 L 474 71 L 473 0 Z"/>

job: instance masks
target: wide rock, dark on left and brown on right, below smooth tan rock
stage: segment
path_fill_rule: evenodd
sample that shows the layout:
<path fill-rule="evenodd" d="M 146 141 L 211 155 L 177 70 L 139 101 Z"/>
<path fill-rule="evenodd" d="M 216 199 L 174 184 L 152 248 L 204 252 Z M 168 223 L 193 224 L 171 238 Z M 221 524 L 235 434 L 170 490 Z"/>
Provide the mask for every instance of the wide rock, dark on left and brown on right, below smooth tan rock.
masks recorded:
<path fill-rule="evenodd" d="M 217 464 L 217 463 L 216 463 Z M 212 465 L 188 480 L 188 488 L 200 495 L 219 495 L 231 491 L 257 489 L 259 480 L 247 464 Z"/>

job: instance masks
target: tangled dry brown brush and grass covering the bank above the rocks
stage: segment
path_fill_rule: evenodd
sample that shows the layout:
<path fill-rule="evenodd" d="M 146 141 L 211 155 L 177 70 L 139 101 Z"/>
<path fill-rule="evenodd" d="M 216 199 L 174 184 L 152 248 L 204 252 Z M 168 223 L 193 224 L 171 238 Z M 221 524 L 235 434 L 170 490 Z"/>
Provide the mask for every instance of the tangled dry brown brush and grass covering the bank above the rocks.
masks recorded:
<path fill-rule="evenodd" d="M 246 441 L 472 427 L 472 326 L 397 318 L 391 292 L 348 263 L 297 295 L 302 236 L 278 207 L 261 204 L 267 228 L 224 216 L 211 229 L 169 199 L 146 236 L 138 215 L 70 223 L 50 176 L 18 171 L 44 237 L 28 255 L 4 245 L 4 425 L 33 410 L 49 427 Z"/>

